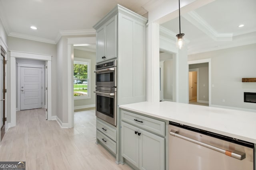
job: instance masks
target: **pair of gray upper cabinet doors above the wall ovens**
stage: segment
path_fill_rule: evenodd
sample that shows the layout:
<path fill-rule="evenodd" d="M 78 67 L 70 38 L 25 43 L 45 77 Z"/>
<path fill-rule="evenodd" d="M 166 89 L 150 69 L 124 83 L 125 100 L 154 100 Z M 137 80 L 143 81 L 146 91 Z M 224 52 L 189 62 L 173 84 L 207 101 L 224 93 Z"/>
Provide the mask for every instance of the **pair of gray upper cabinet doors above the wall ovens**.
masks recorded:
<path fill-rule="evenodd" d="M 110 18 L 96 30 L 96 63 L 117 57 L 117 16 Z"/>

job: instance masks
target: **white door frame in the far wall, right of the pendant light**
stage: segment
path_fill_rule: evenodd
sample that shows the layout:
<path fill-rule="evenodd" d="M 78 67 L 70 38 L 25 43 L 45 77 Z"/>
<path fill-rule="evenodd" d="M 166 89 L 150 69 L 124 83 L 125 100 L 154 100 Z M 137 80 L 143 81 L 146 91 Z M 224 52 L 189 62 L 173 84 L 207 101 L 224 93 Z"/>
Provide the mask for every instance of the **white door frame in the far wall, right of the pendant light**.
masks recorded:
<path fill-rule="evenodd" d="M 200 64 L 200 63 L 208 63 L 209 106 L 212 106 L 212 66 L 211 66 L 211 59 L 201 59 L 201 60 L 188 61 L 188 68 L 189 68 L 190 64 Z"/>

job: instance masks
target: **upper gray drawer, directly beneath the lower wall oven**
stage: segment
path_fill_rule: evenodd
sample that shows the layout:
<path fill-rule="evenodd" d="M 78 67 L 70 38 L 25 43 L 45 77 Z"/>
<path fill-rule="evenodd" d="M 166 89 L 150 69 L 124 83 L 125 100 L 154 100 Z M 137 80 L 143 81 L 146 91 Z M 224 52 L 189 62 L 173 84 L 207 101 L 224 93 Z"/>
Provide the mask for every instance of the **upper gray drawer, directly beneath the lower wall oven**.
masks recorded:
<path fill-rule="evenodd" d="M 97 127 L 97 129 L 99 131 L 104 133 L 110 139 L 116 141 L 116 129 L 114 129 L 113 127 L 107 125 L 103 121 L 100 121 L 99 119 L 97 119 L 97 121 L 96 121 L 96 127 Z"/>

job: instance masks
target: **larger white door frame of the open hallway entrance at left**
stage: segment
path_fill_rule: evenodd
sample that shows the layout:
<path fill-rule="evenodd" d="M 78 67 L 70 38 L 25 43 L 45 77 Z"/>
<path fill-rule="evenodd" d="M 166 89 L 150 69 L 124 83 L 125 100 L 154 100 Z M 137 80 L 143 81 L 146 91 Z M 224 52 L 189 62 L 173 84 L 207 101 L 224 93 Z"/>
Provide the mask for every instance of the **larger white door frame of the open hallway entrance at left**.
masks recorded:
<path fill-rule="evenodd" d="M 52 120 L 52 55 L 10 51 L 10 101 L 16 101 L 16 58 L 46 61 L 47 65 L 47 115 Z M 11 120 L 9 127 L 16 126 L 16 102 L 10 102 Z"/>

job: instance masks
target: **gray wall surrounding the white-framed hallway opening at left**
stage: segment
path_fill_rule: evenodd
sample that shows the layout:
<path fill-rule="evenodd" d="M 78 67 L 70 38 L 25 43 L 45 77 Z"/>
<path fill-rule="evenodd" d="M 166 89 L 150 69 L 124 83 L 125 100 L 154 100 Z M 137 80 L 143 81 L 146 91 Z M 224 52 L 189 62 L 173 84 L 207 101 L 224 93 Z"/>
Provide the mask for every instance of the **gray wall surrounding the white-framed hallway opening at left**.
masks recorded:
<path fill-rule="evenodd" d="M 56 115 L 56 45 L 9 36 L 7 38 L 7 42 L 8 48 L 11 51 L 22 51 L 28 53 L 52 55 L 52 116 Z M 10 61 L 10 57 L 8 59 Z M 10 62 L 7 62 L 7 68 L 7 77 L 10 77 Z M 7 83 L 9 83 L 8 87 L 10 87 L 10 79 L 7 78 L 7 81 Z M 10 93 L 7 95 L 10 99 Z M 10 108 L 9 105 L 7 107 Z M 8 114 L 8 116 L 8 120 L 10 120 L 10 113 Z"/>

